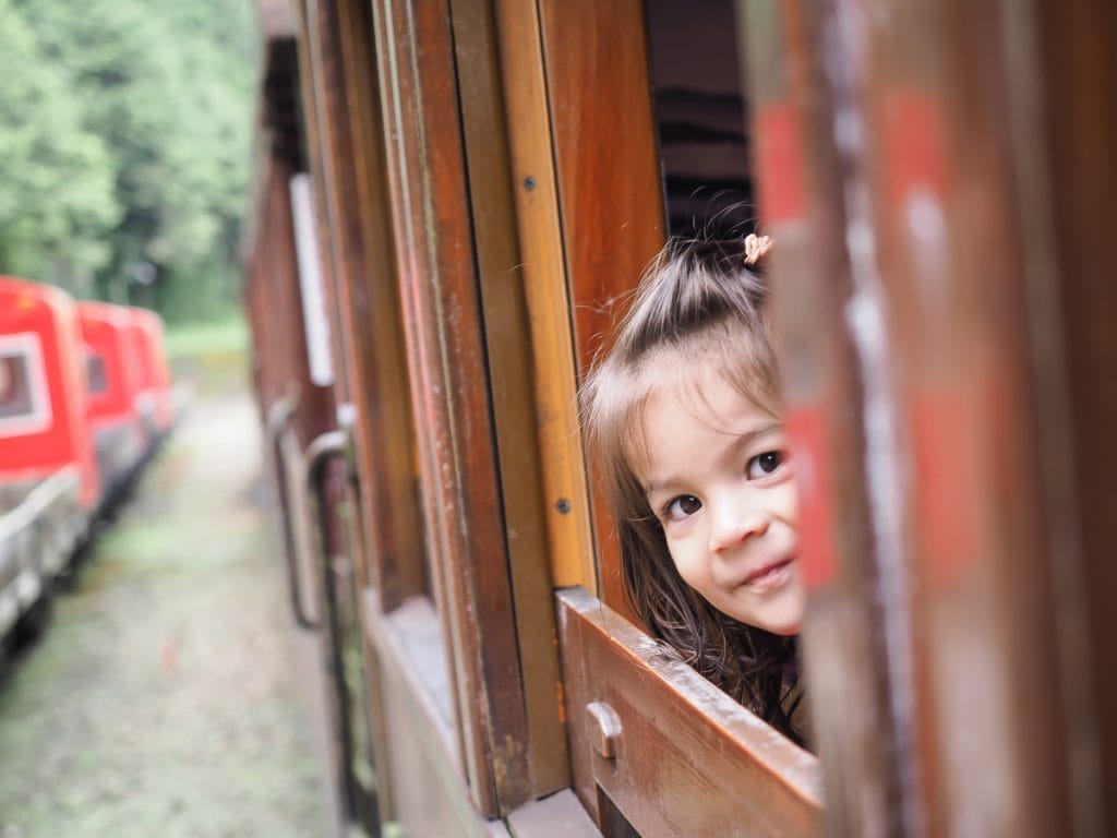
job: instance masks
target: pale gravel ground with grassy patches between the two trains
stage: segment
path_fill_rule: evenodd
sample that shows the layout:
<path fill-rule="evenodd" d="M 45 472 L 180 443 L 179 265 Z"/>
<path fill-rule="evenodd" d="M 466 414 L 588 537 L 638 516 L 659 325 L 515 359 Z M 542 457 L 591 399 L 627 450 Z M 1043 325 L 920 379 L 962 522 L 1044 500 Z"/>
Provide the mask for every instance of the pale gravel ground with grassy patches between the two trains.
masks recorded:
<path fill-rule="evenodd" d="M 260 451 L 195 403 L 0 677 L 0 838 L 332 831 Z"/>

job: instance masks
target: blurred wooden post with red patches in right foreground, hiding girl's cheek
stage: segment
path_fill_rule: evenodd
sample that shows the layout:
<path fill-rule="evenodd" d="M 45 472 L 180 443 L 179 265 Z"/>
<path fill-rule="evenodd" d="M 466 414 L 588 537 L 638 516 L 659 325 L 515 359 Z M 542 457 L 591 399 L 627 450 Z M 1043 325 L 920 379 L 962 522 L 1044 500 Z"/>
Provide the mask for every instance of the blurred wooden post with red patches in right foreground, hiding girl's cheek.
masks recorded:
<path fill-rule="evenodd" d="M 1114 15 L 742 9 L 831 829 L 1102 834 Z"/>

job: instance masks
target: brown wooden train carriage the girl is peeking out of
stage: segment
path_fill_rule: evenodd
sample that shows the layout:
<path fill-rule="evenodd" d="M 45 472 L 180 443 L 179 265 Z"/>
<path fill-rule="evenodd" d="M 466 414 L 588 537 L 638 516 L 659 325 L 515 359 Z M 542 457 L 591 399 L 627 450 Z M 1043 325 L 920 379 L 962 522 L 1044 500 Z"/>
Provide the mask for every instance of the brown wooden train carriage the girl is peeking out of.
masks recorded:
<path fill-rule="evenodd" d="M 254 371 L 347 828 L 1111 831 L 1111 12 L 684 6 L 260 3 Z M 634 620 L 574 409 L 743 201 L 821 763 Z"/>

